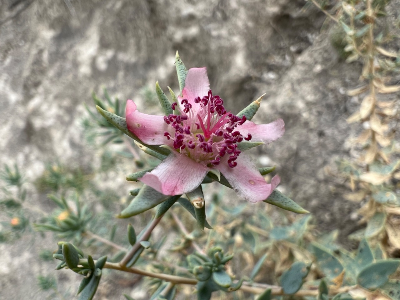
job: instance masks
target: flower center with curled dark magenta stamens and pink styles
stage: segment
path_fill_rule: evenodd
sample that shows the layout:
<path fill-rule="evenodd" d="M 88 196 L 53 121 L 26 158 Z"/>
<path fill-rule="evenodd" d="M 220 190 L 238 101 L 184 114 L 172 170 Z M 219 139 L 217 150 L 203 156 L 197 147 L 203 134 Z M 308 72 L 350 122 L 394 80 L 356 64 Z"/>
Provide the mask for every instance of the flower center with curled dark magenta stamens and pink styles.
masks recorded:
<path fill-rule="evenodd" d="M 251 134 L 245 138 L 236 126 L 246 122 L 246 117 L 239 118 L 231 112 L 226 112 L 224 101 L 219 96 L 213 96 L 211 90 L 202 99 L 197 97 L 194 102 L 199 105 L 197 112 L 192 110 L 192 104 L 183 99 L 183 110 L 172 104 L 172 110 L 178 110 L 179 115 L 164 116 L 164 122 L 175 129 L 175 136 L 164 132 L 168 140 L 173 139 L 176 151 L 189 156 L 196 162 L 209 167 L 218 165 L 222 157 L 229 155 L 228 165 L 234 168 L 235 160 L 240 154 L 237 143 L 251 140 Z"/>

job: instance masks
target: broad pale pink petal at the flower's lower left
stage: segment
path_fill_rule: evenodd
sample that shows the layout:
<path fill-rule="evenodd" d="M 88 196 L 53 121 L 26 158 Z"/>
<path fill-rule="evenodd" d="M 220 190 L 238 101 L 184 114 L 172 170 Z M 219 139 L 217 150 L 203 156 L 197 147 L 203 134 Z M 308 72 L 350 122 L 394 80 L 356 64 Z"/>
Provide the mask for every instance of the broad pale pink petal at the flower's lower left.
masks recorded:
<path fill-rule="evenodd" d="M 144 184 L 164 195 L 180 195 L 197 188 L 208 173 L 209 168 L 188 158 L 171 153 L 150 173 L 139 178 Z"/>

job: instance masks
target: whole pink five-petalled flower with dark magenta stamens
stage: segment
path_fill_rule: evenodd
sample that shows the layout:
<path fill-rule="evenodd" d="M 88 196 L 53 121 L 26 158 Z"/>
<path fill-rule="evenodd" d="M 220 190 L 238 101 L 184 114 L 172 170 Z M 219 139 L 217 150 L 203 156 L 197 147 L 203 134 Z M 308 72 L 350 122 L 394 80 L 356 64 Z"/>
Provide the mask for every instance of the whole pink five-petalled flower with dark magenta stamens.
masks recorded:
<path fill-rule="evenodd" d="M 216 169 L 240 197 L 250 202 L 268 198 L 279 184 L 279 176 L 266 183 L 238 143 L 277 140 L 285 131 L 283 120 L 256 125 L 227 112 L 222 99 L 210 90 L 206 68 L 188 70 L 182 96 L 179 105 L 172 104 L 179 113 L 169 116 L 143 114 L 132 100 L 127 101 L 128 129 L 146 144 L 166 144 L 174 149 L 140 180 L 165 195 L 186 194 Z"/>

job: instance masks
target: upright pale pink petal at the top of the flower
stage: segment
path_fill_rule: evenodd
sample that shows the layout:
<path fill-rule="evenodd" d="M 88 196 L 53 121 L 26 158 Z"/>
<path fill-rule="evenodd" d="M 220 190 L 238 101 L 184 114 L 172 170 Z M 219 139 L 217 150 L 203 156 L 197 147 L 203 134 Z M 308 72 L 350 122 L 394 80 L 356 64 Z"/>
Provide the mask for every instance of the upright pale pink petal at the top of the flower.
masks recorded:
<path fill-rule="evenodd" d="M 188 102 L 192 104 L 192 110 L 194 113 L 198 111 L 199 104 L 194 103 L 194 99 L 197 97 L 203 98 L 207 95 L 210 90 L 210 82 L 208 81 L 207 69 L 204 68 L 190 68 L 185 80 L 185 87 L 182 90 L 182 96 L 178 97 L 179 105 L 182 99 L 188 99 Z M 182 108 L 182 105 L 181 105 Z M 182 108 L 183 110 L 183 108 Z"/>

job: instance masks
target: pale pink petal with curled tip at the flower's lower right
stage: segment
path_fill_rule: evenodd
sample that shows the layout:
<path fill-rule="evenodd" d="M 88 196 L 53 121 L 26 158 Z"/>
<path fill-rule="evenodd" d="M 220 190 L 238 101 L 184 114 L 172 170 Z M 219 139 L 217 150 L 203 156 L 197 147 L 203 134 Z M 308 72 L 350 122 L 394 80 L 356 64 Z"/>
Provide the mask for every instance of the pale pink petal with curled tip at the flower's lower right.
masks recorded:
<path fill-rule="evenodd" d="M 265 182 L 249 156 L 241 153 L 236 159 L 238 164 L 234 168 L 231 168 L 225 160 L 215 168 L 225 176 L 239 197 L 249 202 L 259 202 L 271 194 L 271 184 Z M 276 180 L 275 183 L 277 184 Z"/>

